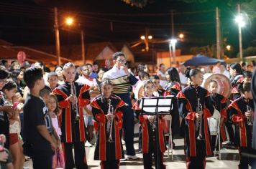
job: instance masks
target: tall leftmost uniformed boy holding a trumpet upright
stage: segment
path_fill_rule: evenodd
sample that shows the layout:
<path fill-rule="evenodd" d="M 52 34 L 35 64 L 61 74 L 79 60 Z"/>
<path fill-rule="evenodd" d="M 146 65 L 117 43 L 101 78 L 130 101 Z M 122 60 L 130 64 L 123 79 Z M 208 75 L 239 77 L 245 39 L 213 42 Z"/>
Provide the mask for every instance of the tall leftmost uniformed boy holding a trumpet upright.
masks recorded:
<path fill-rule="evenodd" d="M 65 164 L 67 169 L 88 168 L 86 162 L 86 150 L 84 143 L 86 140 L 83 108 L 90 112 L 86 105 L 90 102 L 89 89 L 87 84 L 75 82 L 76 67 L 73 63 L 67 63 L 63 67 L 65 83 L 61 84 L 53 94 L 58 98 L 58 106 L 62 109 L 59 116 L 59 123 L 62 135 L 60 137 L 63 144 Z M 73 148 L 75 151 L 75 164 L 73 160 Z"/>

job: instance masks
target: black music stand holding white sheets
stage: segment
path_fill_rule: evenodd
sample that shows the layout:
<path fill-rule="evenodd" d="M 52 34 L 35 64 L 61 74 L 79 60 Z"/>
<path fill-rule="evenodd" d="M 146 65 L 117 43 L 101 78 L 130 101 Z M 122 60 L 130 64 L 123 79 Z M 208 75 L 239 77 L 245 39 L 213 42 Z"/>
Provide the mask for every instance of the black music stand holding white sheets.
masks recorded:
<path fill-rule="evenodd" d="M 140 115 L 155 115 L 156 116 L 156 125 L 155 125 L 155 142 L 156 142 L 156 155 L 157 161 L 155 161 L 155 168 L 160 169 L 160 159 L 159 159 L 159 150 L 158 150 L 158 116 L 159 115 L 170 115 L 173 110 L 173 100 L 175 96 L 168 97 L 142 97 L 141 102 L 141 112 Z"/>

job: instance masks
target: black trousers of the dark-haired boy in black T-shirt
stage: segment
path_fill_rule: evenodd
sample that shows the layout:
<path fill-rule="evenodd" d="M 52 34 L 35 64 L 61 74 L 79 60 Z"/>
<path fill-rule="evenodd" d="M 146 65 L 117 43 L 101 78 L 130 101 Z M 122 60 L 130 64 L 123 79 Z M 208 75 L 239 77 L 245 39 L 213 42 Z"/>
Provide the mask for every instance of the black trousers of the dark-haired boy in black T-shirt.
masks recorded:
<path fill-rule="evenodd" d="M 31 149 L 31 157 L 34 169 L 52 169 L 52 155 L 51 148 L 37 148 Z"/>

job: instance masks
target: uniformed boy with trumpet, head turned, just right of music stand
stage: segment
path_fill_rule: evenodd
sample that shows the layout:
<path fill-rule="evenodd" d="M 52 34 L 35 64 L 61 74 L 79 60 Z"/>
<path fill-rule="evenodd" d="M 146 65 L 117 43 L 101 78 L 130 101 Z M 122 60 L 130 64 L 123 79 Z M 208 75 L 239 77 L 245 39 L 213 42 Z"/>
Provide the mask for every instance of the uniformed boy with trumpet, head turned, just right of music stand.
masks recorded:
<path fill-rule="evenodd" d="M 186 166 L 201 169 L 206 167 L 206 155 L 211 155 L 207 118 L 213 114 L 214 107 L 210 104 L 209 92 L 200 86 L 203 73 L 191 69 L 186 77 L 191 84 L 177 95 L 180 116 L 185 120 Z"/>

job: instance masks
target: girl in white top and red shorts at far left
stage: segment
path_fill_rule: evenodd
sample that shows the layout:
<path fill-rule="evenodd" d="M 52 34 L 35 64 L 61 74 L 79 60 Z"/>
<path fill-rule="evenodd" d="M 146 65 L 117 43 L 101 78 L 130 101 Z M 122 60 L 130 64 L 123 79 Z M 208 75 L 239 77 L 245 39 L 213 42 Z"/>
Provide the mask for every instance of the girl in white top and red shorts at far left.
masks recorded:
<path fill-rule="evenodd" d="M 9 150 L 12 154 L 13 164 L 15 169 L 22 169 L 24 164 L 24 155 L 22 149 L 22 140 L 19 138 L 20 135 L 20 120 L 19 120 L 19 111 L 22 110 L 22 107 L 17 107 L 19 102 L 12 102 L 13 97 L 17 93 L 17 84 L 13 81 L 7 82 L 3 87 L 3 92 L 6 95 L 6 101 L 8 105 L 13 105 L 14 115 L 9 117 Z"/>

